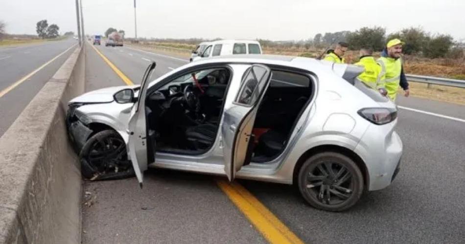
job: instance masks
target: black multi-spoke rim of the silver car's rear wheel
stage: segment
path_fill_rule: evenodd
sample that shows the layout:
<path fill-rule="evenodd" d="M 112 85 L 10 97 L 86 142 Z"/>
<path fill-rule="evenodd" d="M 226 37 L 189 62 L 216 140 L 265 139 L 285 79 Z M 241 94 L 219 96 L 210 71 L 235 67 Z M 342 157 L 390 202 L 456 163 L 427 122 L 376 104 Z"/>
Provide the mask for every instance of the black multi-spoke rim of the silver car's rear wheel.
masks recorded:
<path fill-rule="evenodd" d="M 305 191 L 324 205 L 343 204 L 353 195 L 354 177 L 337 162 L 320 162 L 310 166 L 305 177 Z"/>

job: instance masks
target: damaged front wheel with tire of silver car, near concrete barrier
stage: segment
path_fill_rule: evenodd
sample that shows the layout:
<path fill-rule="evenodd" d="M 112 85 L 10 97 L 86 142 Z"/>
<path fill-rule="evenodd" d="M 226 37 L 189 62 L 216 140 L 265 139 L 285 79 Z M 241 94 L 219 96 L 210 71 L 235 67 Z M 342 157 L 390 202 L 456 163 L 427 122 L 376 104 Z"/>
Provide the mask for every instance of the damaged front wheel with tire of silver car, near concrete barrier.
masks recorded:
<path fill-rule="evenodd" d="M 91 136 L 82 148 L 79 159 L 84 178 L 117 179 L 134 174 L 131 161 L 128 160 L 126 144 L 113 130 L 101 131 Z"/>

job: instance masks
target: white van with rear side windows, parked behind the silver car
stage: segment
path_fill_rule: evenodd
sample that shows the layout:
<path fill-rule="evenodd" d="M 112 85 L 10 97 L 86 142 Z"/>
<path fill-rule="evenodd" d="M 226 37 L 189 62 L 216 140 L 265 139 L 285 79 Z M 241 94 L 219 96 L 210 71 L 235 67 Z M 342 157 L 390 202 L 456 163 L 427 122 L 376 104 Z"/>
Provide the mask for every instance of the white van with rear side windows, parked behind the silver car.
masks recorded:
<path fill-rule="evenodd" d="M 220 40 L 209 43 L 201 55 L 193 59 L 209 58 L 231 54 L 262 54 L 260 43 L 249 40 Z"/>

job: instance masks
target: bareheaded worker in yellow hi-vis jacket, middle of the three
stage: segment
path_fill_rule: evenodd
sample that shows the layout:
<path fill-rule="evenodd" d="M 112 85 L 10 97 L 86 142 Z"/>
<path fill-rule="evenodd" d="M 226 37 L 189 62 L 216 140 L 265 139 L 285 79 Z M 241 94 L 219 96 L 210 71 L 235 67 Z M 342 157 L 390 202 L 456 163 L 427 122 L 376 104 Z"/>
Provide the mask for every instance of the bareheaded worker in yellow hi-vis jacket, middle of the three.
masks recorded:
<path fill-rule="evenodd" d="M 388 92 L 384 88 L 384 75 L 381 65 L 376 63 L 372 54 L 373 50 L 371 48 L 363 47 L 360 49 L 360 60 L 354 65 L 362 66 L 365 70 L 357 78 L 371 89 L 377 90 L 381 95 L 386 96 Z"/>

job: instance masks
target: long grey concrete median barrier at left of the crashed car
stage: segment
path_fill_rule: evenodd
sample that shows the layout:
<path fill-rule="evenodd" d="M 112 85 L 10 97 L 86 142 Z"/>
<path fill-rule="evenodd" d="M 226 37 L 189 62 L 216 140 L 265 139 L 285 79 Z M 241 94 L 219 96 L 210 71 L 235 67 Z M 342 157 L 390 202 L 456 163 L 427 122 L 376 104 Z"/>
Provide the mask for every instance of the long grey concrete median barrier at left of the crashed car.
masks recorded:
<path fill-rule="evenodd" d="M 84 91 L 77 47 L 0 138 L 0 243 L 80 243 L 81 175 L 67 101 Z"/>

